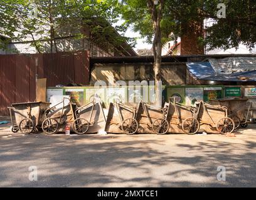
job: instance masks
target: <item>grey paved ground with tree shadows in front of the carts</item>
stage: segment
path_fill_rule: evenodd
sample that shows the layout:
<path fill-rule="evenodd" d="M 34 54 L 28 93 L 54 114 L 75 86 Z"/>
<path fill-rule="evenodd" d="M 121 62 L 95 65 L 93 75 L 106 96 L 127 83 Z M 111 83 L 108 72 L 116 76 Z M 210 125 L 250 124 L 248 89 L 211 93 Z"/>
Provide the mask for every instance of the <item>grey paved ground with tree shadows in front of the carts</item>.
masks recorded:
<path fill-rule="evenodd" d="M 213 134 L 10 136 L 8 126 L 0 125 L 0 187 L 256 186 L 255 124 L 240 129 L 236 138 Z M 31 166 L 37 168 L 38 181 L 29 181 Z M 226 175 L 220 177 L 226 181 L 216 178 L 218 166 L 225 167 Z"/>

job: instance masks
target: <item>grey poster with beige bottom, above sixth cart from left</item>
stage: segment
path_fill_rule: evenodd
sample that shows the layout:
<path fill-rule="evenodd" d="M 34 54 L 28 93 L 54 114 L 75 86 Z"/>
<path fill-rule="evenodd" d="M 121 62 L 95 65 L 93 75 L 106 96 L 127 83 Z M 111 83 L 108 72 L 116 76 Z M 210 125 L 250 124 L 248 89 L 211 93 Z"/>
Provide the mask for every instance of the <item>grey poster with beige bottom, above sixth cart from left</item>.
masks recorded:
<path fill-rule="evenodd" d="M 203 88 L 186 88 L 186 105 L 195 106 L 196 101 L 203 100 Z"/>

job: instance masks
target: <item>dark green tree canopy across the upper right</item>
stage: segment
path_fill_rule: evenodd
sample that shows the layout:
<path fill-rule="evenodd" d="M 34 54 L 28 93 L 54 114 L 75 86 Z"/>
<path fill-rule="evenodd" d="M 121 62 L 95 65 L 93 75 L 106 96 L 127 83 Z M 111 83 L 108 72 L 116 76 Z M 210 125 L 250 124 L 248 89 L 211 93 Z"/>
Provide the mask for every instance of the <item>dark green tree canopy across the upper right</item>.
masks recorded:
<path fill-rule="evenodd" d="M 120 1 L 117 1 L 120 2 Z M 123 0 L 119 4 L 125 24 L 131 24 L 134 31 L 139 31 L 147 42 L 152 43 L 154 28 L 151 12 L 147 2 L 141 0 Z M 154 1 L 155 2 L 155 1 Z M 159 1 L 156 1 L 159 2 Z M 218 18 L 217 12 L 226 6 L 225 18 Z M 191 21 L 201 21 L 211 18 L 213 26 L 206 27 L 206 37 L 198 37 L 198 41 L 207 44 L 208 49 L 221 47 L 228 49 L 238 47 L 240 42 L 251 48 L 256 43 L 256 2 L 250 0 L 166 0 L 164 1 L 163 17 L 161 19 L 161 41 L 173 41 L 180 37 L 181 24 Z"/>

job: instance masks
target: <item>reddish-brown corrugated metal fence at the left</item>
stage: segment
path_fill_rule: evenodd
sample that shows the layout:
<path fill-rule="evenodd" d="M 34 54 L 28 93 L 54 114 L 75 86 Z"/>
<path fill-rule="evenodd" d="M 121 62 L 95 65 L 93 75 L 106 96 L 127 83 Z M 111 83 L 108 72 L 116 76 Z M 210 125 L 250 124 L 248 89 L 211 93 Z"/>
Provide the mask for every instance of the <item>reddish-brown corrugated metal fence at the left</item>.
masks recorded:
<path fill-rule="evenodd" d="M 36 76 L 47 86 L 89 83 L 88 51 L 0 55 L 0 116 L 11 103 L 35 101 Z"/>

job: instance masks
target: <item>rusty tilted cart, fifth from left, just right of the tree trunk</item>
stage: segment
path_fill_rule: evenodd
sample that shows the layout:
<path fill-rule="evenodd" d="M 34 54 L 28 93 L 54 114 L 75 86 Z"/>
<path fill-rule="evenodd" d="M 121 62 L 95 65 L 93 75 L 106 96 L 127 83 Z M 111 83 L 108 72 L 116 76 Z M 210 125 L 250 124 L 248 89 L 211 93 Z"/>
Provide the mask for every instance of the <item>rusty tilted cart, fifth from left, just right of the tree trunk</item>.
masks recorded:
<path fill-rule="evenodd" d="M 166 120 L 169 107 L 157 108 L 141 101 L 137 112 L 139 133 L 168 133 L 169 123 Z"/>

